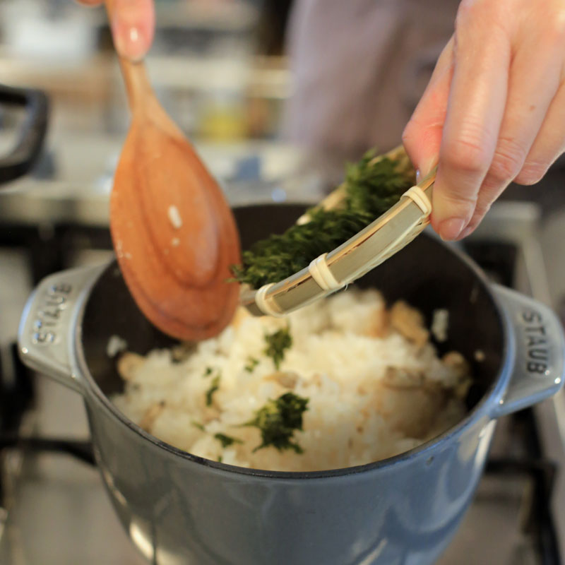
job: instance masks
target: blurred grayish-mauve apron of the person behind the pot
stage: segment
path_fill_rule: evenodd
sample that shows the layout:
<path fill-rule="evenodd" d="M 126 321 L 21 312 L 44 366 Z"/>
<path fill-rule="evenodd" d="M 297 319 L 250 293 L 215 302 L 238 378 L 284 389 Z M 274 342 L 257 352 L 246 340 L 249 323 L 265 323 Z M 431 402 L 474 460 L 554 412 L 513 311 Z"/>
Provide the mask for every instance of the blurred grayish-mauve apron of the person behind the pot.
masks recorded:
<path fill-rule="evenodd" d="M 458 0 L 297 0 L 288 53 L 293 93 L 285 135 L 328 182 L 344 160 L 400 143 Z"/>

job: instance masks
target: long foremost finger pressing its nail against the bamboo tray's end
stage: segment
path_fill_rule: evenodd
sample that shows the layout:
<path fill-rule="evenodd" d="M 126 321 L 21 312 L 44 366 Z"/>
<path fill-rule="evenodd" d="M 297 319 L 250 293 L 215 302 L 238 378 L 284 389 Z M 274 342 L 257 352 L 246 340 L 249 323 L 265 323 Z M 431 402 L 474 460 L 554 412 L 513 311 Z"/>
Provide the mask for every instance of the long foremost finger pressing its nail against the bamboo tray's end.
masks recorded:
<path fill-rule="evenodd" d="M 456 239 L 472 218 L 504 116 L 511 43 L 506 30 L 486 17 L 472 10 L 458 16 L 456 64 L 433 194 L 432 225 L 444 239 Z"/>

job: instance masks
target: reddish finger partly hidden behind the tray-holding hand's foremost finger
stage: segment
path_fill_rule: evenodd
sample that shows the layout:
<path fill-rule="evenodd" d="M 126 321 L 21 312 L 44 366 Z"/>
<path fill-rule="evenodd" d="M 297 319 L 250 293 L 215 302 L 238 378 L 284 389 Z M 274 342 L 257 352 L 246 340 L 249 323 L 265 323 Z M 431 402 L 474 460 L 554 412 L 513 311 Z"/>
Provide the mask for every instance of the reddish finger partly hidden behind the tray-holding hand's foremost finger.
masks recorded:
<path fill-rule="evenodd" d="M 425 177 L 437 164 L 453 77 L 453 37 L 441 52 L 432 77 L 406 125 L 402 140 L 412 164 Z"/>

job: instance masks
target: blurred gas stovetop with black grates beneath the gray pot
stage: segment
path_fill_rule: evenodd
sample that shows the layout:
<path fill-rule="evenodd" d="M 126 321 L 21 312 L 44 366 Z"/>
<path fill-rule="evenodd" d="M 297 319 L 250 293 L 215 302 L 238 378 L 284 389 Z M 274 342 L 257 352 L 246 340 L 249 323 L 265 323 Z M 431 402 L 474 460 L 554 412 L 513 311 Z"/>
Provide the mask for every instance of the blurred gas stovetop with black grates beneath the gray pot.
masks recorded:
<path fill-rule="evenodd" d="M 552 296 L 545 275 L 552 269 L 542 260 L 539 217 L 540 209 L 531 204 L 495 206 L 465 251 L 493 280 L 549 302 Z M 54 234 L 61 240 L 61 256 L 36 266 L 32 278 L 42 276 L 42 269 L 77 261 L 80 254 L 62 253 L 69 242 L 83 249 L 107 248 L 104 233 L 102 228 L 85 232 L 69 227 Z M 0 241 L 2 237 L 0 228 Z M 4 237 L 4 242 L 8 239 Z M 2 276 L 8 276 L 13 285 L 15 270 L 7 275 L 6 269 L 0 270 L 0 289 Z M 28 280 L 28 287 L 31 283 Z M 12 396 L 1 391 L 4 406 L 12 410 L 6 416 L 9 421 L 0 422 L 0 564 L 146 563 L 114 516 L 91 464 L 80 396 L 29 374 L 13 350 L 4 347 L 0 355 L 3 383 L 12 391 Z M 17 403 L 21 407 L 26 399 L 29 408 L 21 413 Z M 439 565 L 561 563 L 565 488 L 559 470 L 565 469 L 565 435 L 559 434 L 557 416 L 563 402 L 560 394 L 499 421 L 477 495 Z"/>

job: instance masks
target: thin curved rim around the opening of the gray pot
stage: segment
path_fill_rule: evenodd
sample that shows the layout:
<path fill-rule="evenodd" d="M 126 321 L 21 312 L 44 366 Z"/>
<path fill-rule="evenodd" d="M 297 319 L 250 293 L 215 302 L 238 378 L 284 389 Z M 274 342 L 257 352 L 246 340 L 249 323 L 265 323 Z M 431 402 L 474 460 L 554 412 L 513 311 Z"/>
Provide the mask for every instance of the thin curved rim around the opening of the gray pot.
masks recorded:
<path fill-rule="evenodd" d="M 422 234 L 423 237 L 433 237 L 427 233 Z M 421 237 L 422 237 L 421 236 Z M 446 246 L 444 242 L 441 240 L 436 239 L 438 244 Z M 499 320 L 501 321 L 501 330 L 502 330 L 502 338 L 503 338 L 503 350 L 502 350 L 502 362 L 501 366 L 499 367 L 499 372 L 494 379 L 494 382 L 491 386 L 487 389 L 484 393 L 482 398 L 477 402 L 477 404 L 465 415 L 463 420 L 460 420 L 458 424 L 455 426 L 447 429 L 444 433 L 440 434 L 439 436 L 430 439 L 429 441 L 425 441 L 423 444 L 412 448 L 408 451 L 404 451 L 403 453 L 399 453 L 396 456 L 388 457 L 386 459 L 381 459 L 378 461 L 374 461 L 372 463 L 365 463 L 364 465 L 355 465 L 354 467 L 345 467 L 345 468 L 338 468 L 338 469 L 328 469 L 328 470 L 320 470 L 320 471 L 270 471 L 270 470 L 263 470 L 263 469 L 254 469 L 254 468 L 246 468 L 246 467 L 239 467 L 237 465 L 228 465 L 227 463 L 220 463 L 218 461 L 214 461 L 211 459 L 206 459 L 200 456 L 193 455 L 188 451 L 184 451 L 180 448 L 172 446 L 171 444 L 167 444 L 167 442 L 162 441 L 161 439 L 145 432 L 144 429 L 139 427 L 137 424 L 129 420 L 124 414 L 122 414 L 116 406 L 112 403 L 111 400 L 102 392 L 100 387 L 98 386 L 97 382 L 93 378 L 92 374 L 90 374 L 90 369 L 88 369 L 88 365 L 86 363 L 86 359 L 84 357 L 83 347 L 82 347 L 82 321 L 83 315 L 85 311 L 86 304 L 88 302 L 88 298 L 90 297 L 90 291 L 93 289 L 97 281 L 102 276 L 102 273 L 105 273 L 105 269 L 102 269 L 93 280 L 90 282 L 90 285 L 85 287 L 83 290 L 83 294 L 81 295 L 81 304 L 80 307 L 76 311 L 76 315 L 74 316 L 73 323 L 71 324 L 71 328 L 76 328 L 76 331 L 73 332 L 74 340 L 73 340 L 73 363 L 78 365 L 78 374 L 81 375 L 81 380 L 83 386 L 81 387 L 83 390 L 83 396 L 85 398 L 92 397 L 94 398 L 98 405 L 101 408 L 104 408 L 109 414 L 117 420 L 120 424 L 124 424 L 131 432 L 138 434 L 141 438 L 150 441 L 151 444 L 157 446 L 158 448 L 162 448 L 163 450 L 171 453 L 174 456 L 179 456 L 183 459 L 191 461 L 191 463 L 196 463 L 198 465 L 203 465 L 204 467 L 208 467 L 215 471 L 224 472 L 228 475 L 235 473 L 237 475 L 246 475 L 251 477 L 258 477 L 258 478 L 266 478 L 266 479 L 275 479 L 275 480 L 311 480 L 311 479 L 333 479 L 337 477 L 343 477 L 346 475 L 357 475 L 364 472 L 370 472 L 374 470 L 379 470 L 382 468 L 391 468 L 394 465 L 400 465 L 402 463 L 407 462 L 408 460 L 412 460 L 423 454 L 426 454 L 429 451 L 434 451 L 438 448 L 441 444 L 444 444 L 446 441 L 453 439 L 456 436 L 462 434 L 465 429 L 468 429 L 472 426 L 477 420 L 480 419 L 482 416 L 487 416 L 489 420 L 492 419 L 492 415 L 489 413 L 489 407 L 498 403 L 502 394 L 506 390 L 506 386 L 508 385 L 508 381 L 511 375 L 511 367 L 512 363 L 509 362 L 509 357 L 515 355 L 515 346 L 509 340 L 509 335 L 511 335 L 510 331 L 510 323 L 507 319 L 506 313 L 501 307 L 498 297 L 492 292 L 491 285 L 487 280 L 486 275 L 482 272 L 479 266 L 472 261 L 470 257 L 463 254 L 462 251 L 458 249 L 454 249 L 452 246 L 446 246 L 448 251 L 450 251 L 459 261 L 463 261 L 465 265 L 472 271 L 472 274 L 475 276 L 477 282 L 484 287 L 484 290 L 487 291 L 489 297 L 492 299 L 494 307 L 499 315 Z M 89 407 L 90 409 L 90 407 Z"/>

